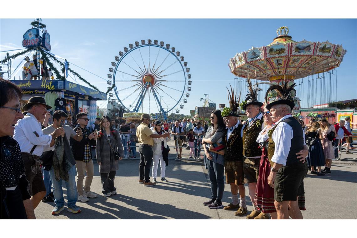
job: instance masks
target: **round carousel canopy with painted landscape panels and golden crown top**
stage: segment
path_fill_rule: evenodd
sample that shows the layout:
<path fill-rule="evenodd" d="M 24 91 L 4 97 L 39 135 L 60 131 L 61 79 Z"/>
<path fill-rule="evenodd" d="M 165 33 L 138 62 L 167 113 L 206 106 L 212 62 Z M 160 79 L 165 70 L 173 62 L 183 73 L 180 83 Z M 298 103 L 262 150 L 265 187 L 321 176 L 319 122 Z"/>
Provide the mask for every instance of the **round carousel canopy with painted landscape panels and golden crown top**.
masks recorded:
<path fill-rule="evenodd" d="M 228 66 L 239 77 L 258 80 L 294 80 L 340 66 L 346 50 L 328 41 L 293 41 L 286 26 L 277 29 L 274 41 L 237 53 Z"/>

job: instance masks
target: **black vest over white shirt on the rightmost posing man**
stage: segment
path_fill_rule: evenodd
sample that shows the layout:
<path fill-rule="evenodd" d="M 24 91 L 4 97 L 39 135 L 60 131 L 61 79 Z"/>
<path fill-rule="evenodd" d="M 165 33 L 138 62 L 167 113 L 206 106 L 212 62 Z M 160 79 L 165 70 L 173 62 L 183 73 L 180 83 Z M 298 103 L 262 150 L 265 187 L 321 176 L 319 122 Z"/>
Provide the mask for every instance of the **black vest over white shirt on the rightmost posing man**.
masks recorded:
<path fill-rule="evenodd" d="M 299 159 L 297 158 L 297 155 L 295 155 L 295 153 L 301 151 L 304 148 L 304 138 L 303 138 L 303 134 L 302 134 L 301 125 L 294 117 L 288 117 L 285 120 L 282 120 L 280 122 L 286 122 L 289 126 L 291 126 L 292 132 L 293 132 L 293 138 L 291 139 L 291 147 L 290 147 L 288 157 L 286 159 L 286 165 L 299 162 Z M 271 158 L 274 155 L 274 151 L 275 151 L 275 142 L 272 139 L 272 135 L 273 135 L 275 128 L 276 128 L 276 126 L 270 131 L 269 138 L 268 138 L 269 160 L 271 160 Z"/>

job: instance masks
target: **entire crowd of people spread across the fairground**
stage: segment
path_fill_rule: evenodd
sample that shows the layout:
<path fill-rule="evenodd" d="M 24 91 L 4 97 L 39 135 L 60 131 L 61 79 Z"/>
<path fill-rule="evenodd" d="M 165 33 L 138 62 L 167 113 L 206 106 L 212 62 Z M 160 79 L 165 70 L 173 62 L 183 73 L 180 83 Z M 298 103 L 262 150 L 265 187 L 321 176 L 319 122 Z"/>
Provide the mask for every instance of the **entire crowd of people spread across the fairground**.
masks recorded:
<path fill-rule="evenodd" d="M 211 185 L 211 198 L 204 206 L 236 210 L 236 216 L 244 216 L 248 213 L 244 184 L 248 184 L 253 211 L 247 219 L 302 219 L 303 179 L 308 169 L 318 176 L 331 173 L 338 147 L 346 146 L 350 153 L 350 118 L 336 125 L 324 118 L 304 125 L 291 115 L 293 86 L 269 88 L 277 89 L 280 97 L 262 103 L 257 100 L 258 86 L 247 82 L 250 93 L 242 106 L 248 117 L 245 121 L 240 120 L 240 99 L 231 88 L 230 107 L 212 111 L 210 126 L 192 118 L 172 124 L 151 122 L 146 113 L 139 122 L 103 116 L 88 125 L 88 115 L 81 112 L 76 115 L 77 126 L 71 128 L 65 125 L 68 115 L 62 110 L 53 113 L 53 123 L 48 125 L 51 106 L 42 97 L 31 97 L 20 108 L 20 88 L 1 79 L 1 219 L 35 219 L 34 209 L 41 201 L 55 203 L 51 214 L 61 213 L 65 209 L 62 182 L 67 190 L 67 211 L 81 212 L 77 202 L 98 195 L 91 191 L 93 158 L 106 197 L 117 193 L 114 181 L 119 161 L 137 154 L 139 183 L 155 186 L 159 164 L 161 182 L 168 182 L 167 142 L 171 138 L 178 158 L 186 147 L 191 159 L 200 159 L 203 147 Z M 225 183 L 230 184 L 232 193 L 227 206 L 222 204 Z"/>

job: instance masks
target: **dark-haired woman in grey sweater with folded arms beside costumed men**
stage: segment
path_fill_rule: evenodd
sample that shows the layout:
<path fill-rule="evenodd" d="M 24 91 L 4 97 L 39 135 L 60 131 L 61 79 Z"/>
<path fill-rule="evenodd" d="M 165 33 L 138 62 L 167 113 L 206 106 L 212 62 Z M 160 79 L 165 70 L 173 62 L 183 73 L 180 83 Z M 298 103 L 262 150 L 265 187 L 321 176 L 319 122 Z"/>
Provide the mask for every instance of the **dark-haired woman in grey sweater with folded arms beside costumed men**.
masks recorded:
<path fill-rule="evenodd" d="M 224 192 L 224 157 L 223 155 L 208 151 L 208 149 L 213 143 L 222 143 L 225 125 L 220 110 L 212 111 L 210 119 L 211 126 L 208 127 L 206 136 L 202 139 L 202 145 L 207 157 L 206 166 L 211 181 L 212 198 L 210 201 L 204 202 L 203 205 L 217 209 L 223 207 L 221 200 Z"/>

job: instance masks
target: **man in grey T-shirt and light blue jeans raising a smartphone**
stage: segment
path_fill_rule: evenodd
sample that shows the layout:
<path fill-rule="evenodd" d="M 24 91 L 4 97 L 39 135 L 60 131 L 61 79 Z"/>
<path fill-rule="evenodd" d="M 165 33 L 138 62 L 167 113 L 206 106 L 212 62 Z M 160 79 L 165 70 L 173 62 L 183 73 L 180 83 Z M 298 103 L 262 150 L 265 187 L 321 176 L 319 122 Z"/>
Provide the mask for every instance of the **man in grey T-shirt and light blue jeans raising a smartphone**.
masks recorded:
<path fill-rule="evenodd" d="M 55 111 L 52 117 L 53 124 L 51 126 L 42 129 L 42 132 L 45 135 L 48 135 L 52 133 L 54 130 L 56 130 L 57 128 L 63 127 L 65 130 L 65 136 L 63 137 L 63 140 L 67 140 L 68 145 L 70 142 L 70 138 L 80 142 L 83 138 L 82 130 L 80 130 L 79 128 L 74 130 L 70 126 L 64 125 L 67 117 L 68 115 L 64 111 L 62 110 Z M 54 147 L 50 147 L 49 150 L 52 150 L 53 148 Z M 81 212 L 81 210 L 79 207 L 76 206 L 76 202 L 78 198 L 77 185 L 76 185 L 76 175 L 77 175 L 76 166 L 75 166 L 76 161 L 72 156 L 68 156 L 68 157 L 64 156 L 64 159 L 66 159 L 72 165 L 72 167 L 68 171 L 68 181 L 65 181 L 66 189 L 67 189 L 67 200 L 68 200 L 67 211 L 72 213 L 79 213 Z M 49 171 L 52 185 L 54 188 L 53 195 L 55 197 L 55 208 L 52 210 L 51 214 L 55 215 L 55 214 L 59 214 L 61 211 L 64 210 L 64 197 L 62 191 L 62 179 L 60 179 L 60 181 L 57 181 L 57 179 L 55 178 L 55 171 L 52 165 L 53 165 L 53 155 L 50 161 L 48 161 L 45 164 L 44 170 Z"/>

